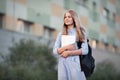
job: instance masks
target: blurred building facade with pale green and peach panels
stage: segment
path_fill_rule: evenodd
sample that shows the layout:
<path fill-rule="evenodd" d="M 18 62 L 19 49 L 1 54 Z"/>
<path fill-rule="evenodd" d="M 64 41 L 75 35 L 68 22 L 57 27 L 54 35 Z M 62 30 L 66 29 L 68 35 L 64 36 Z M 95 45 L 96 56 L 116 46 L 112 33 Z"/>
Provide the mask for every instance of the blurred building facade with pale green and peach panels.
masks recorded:
<path fill-rule="evenodd" d="M 73 9 L 94 49 L 120 53 L 119 5 L 120 0 L 0 0 L 1 50 L 31 36 L 54 43 L 65 11 Z"/>

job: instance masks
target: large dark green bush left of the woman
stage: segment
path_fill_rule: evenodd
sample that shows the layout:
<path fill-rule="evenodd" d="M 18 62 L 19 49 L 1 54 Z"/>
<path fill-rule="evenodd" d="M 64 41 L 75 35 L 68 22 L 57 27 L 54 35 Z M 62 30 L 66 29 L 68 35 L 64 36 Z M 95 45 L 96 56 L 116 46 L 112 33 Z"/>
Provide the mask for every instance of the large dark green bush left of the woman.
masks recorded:
<path fill-rule="evenodd" d="M 56 59 L 47 45 L 21 40 L 4 60 L 0 80 L 57 80 Z"/>

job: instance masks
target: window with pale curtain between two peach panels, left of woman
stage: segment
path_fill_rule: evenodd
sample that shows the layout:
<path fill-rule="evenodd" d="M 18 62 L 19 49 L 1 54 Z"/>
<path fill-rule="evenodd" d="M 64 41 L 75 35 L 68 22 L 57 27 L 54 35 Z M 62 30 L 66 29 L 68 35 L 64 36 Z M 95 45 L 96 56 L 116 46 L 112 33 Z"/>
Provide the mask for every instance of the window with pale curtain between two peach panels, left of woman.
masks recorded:
<path fill-rule="evenodd" d="M 31 33 L 32 24 L 33 23 L 31 23 L 31 22 L 18 19 L 17 30 L 20 32 L 23 32 L 23 33 Z"/>

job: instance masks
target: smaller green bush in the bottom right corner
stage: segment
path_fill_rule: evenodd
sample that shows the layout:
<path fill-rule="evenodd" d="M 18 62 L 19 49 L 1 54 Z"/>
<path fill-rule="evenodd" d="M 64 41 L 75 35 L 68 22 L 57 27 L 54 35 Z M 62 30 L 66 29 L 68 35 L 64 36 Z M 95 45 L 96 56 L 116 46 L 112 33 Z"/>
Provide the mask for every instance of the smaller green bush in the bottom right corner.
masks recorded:
<path fill-rule="evenodd" d="M 96 69 L 88 80 L 120 80 L 120 72 L 106 60 L 97 64 Z"/>

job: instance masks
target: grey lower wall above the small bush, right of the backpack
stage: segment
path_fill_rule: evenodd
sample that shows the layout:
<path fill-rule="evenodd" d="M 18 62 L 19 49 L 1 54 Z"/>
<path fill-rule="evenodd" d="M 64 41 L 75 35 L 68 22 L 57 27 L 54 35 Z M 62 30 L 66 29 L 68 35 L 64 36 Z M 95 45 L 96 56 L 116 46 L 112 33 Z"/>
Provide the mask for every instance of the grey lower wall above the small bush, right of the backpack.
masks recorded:
<path fill-rule="evenodd" d="M 116 69 L 120 70 L 120 54 L 93 49 L 93 56 L 96 60 L 96 64 L 104 60 L 109 60 L 114 64 Z"/>

